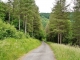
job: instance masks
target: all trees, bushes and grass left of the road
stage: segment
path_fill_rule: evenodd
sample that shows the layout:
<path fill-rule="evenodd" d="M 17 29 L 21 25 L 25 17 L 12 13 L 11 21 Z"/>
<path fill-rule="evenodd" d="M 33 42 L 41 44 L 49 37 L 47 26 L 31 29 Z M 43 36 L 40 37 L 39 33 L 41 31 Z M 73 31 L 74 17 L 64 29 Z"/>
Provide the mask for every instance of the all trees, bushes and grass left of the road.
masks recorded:
<path fill-rule="evenodd" d="M 41 44 L 38 9 L 34 0 L 0 0 L 0 60 L 17 60 Z"/>

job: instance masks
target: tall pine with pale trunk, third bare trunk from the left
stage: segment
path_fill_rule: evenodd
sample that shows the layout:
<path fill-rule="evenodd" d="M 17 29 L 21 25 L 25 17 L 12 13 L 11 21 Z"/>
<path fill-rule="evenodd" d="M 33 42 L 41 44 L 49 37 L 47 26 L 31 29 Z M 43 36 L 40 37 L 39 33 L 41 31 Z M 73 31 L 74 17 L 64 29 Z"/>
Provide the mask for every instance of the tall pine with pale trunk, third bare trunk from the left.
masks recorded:
<path fill-rule="evenodd" d="M 31 10 L 33 10 L 33 4 L 34 0 L 22 0 L 21 1 L 21 14 L 23 15 L 24 18 L 24 26 L 25 26 L 25 34 L 28 32 L 28 21 Z"/>

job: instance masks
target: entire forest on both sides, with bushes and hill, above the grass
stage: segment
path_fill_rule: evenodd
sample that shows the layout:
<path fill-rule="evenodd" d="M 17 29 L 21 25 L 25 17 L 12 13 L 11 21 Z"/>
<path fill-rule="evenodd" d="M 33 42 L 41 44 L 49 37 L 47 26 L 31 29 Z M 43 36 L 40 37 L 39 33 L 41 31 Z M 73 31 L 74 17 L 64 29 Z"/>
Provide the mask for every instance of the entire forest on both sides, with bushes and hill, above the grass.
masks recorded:
<path fill-rule="evenodd" d="M 39 13 L 34 0 L 0 0 L 0 39 L 22 33 L 39 40 L 80 45 L 80 1 L 73 2 L 72 12 L 68 11 L 66 0 L 59 0 L 51 13 Z"/>

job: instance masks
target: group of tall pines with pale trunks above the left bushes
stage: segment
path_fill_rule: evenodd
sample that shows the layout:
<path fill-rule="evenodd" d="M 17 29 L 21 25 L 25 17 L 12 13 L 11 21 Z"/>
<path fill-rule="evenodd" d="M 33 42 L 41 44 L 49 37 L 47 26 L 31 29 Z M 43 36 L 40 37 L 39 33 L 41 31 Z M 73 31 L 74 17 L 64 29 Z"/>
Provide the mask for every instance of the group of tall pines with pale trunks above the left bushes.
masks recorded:
<path fill-rule="evenodd" d="M 41 30 L 40 15 L 34 0 L 14 0 L 13 22 L 17 29 L 23 30 L 25 34 L 37 38 Z M 19 21 L 20 20 L 20 21 Z M 20 23 L 20 24 L 19 24 Z M 20 26 L 19 26 L 20 25 Z"/>

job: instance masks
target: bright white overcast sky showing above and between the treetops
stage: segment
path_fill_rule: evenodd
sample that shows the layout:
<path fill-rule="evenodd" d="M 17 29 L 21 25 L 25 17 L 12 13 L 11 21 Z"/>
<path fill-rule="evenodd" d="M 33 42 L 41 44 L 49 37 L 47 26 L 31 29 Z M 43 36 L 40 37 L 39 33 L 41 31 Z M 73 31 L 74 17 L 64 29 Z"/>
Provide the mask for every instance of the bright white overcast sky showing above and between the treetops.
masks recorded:
<path fill-rule="evenodd" d="M 7 1 L 7 0 L 3 0 Z M 39 7 L 39 12 L 51 12 L 52 7 L 55 5 L 55 0 L 35 0 L 36 5 Z M 74 6 L 72 4 L 72 0 L 67 0 L 67 4 L 71 4 L 70 8 L 72 10 L 72 7 Z"/>

